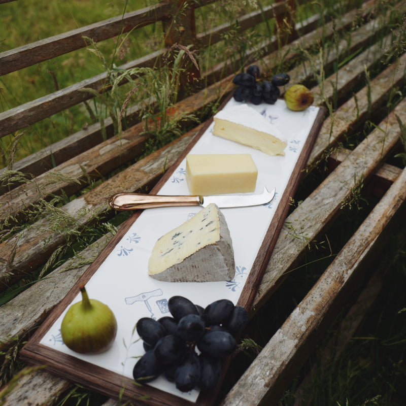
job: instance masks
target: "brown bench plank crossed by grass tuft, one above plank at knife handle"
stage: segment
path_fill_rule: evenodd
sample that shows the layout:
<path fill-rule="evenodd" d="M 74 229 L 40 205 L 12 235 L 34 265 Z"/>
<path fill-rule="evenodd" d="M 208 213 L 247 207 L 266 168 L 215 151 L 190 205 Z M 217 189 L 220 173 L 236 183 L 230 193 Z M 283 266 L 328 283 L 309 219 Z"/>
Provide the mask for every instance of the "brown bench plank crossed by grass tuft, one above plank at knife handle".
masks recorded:
<path fill-rule="evenodd" d="M 168 113 L 168 115 L 176 115 L 177 111 L 198 114 L 205 106 L 218 100 L 218 90 L 224 85 L 225 82 L 210 86 L 179 101 L 174 113 Z M 0 196 L 0 209 L 2 209 L 0 221 L 16 216 L 20 211 L 29 208 L 47 195 L 60 194 L 63 190 L 70 196 L 91 180 L 106 175 L 117 166 L 141 155 L 148 139 L 148 136 L 142 134 L 143 130 L 143 123 L 139 123 L 123 131 L 119 136 L 114 136 L 82 153 L 76 151 L 71 159 L 6 192 Z M 50 182 L 50 179 L 58 178 L 63 180 Z"/>

